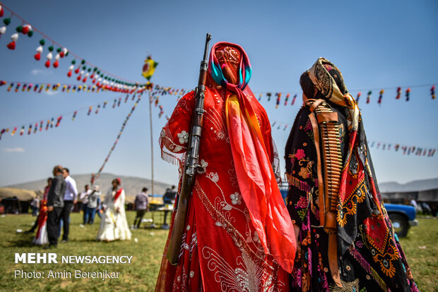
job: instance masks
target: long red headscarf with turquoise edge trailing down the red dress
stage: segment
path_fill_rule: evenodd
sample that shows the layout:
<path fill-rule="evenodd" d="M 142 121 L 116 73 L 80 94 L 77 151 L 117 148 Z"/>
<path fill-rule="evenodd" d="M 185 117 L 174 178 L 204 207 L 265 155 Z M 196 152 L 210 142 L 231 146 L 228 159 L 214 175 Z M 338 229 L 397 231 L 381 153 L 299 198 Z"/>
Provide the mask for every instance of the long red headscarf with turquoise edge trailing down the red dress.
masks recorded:
<path fill-rule="evenodd" d="M 292 272 L 295 233 L 271 166 L 271 149 L 267 149 L 271 141 L 264 140 L 253 106 L 257 101 L 247 86 L 251 78 L 248 56 L 237 44 L 219 42 L 211 49 L 208 71 L 215 83 L 226 88 L 232 158 L 251 222 L 264 252 L 273 255 L 286 272 Z M 234 83 L 227 78 L 235 79 Z"/>

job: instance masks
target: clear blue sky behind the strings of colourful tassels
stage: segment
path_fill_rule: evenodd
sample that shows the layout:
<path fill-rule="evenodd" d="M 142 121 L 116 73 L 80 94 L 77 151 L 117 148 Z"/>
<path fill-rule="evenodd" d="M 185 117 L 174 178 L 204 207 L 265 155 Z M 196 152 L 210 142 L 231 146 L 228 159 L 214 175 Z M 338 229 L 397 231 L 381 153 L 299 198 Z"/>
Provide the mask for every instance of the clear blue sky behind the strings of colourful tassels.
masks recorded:
<path fill-rule="evenodd" d="M 236 3 L 238 2 L 238 3 Z M 127 80 L 144 82 L 143 61 L 148 54 L 159 63 L 152 81 L 176 88 L 196 86 L 206 32 L 212 44 L 236 42 L 246 49 L 254 92 L 283 92 L 278 109 L 275 98 L 264 105 L 273 127 L 280 157 L 290 126 L 299 109 L 299 78 L 319 56 L 343 72 L 354 96 L 362 92 L 360 108 L 369 141 L 438 147 L 438 100 L 430 86 L 438 85 L 437 1 L 3 1 L 30 25 L 99 68 Z M 6 18 L 10 16 L 5 11 Z M 2 23 L 1 23 L 2 24 Z M 16 49 L 6 44 L 21 20 L 11 18 L 0 38 L 0 80 L 31 83 L 78 84 L 66 72 L 72 55 L 59 68 L 45 68 L 33 55 L 42 36 L 20 35 Z M 55 47 L 56 49 L 57 47 Z M 79 59 L 77 59 L 79 60 Z M 400 100 L 394 99 L 402 87 Z M 404 92 L 411 87 L 410 102 Z M 378 92 L 385 89 L 381 106 Z M 6 133 L 0 140 L 0 185 L 50 176 L 55 164 L 71 174 L 96 172 L 112 147 L 133 102 L 112 101 L 125 95 L 100 93 L 7 92 L 0 87 L 0 128 L 25 126 L 23 137 Z M 365 104 L 367 92 L 372 102 Z M 285 94 L 298 94 L 294 106 L 285 107 Z M 290 97 L 290 99 L 292 99 Z M 108 101 L 107 109 L 87 115 L 90 105 Z M 177 102 L 160 98 L 165 114 L 153 107 L 155 180 L 177 181 L 174 166 L 160 159 L 158 137 Z M 79 110 L 75 121 L 73 111 Z M 61 125 L 28 135 L 28 126 L 64 114 Z M 218 150 L 219 151 L 219 150 Z M 437 159 L 371 149 L 379 181 L 406 183 L 438 177 Z M 219 153 L 219 152 L 218 152 Z M 284 163 L 282 163 L 284 166 Z M 124 129 L 104 172 L 150 178 L 148 101 L 143 98 Z"/>

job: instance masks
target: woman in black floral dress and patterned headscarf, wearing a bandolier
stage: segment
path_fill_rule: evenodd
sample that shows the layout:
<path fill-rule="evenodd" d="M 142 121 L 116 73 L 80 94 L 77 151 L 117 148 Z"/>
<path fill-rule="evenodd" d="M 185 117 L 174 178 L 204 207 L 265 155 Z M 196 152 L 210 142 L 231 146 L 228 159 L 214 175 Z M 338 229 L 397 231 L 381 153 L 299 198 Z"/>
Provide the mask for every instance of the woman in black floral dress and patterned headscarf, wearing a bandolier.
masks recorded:
<path fill-rule="evenodd" d="M 292 272 L 293 290 L 418 291 L 381 200 L 360 111 L 341 72 L 330 61 L 319 58 L 302 74 L 300 84 L 304 106 L 285 147 L 290 185 L 287 207 L 299 250 Z M 340 183 L 334 210 L 337 243 L 333 247 L 337 248 L 337 257 L 331 262 L 329 235 L 320 218 L 320 196 L 324 180 L 329 179 L 319 175 L 326 167 L 321 158 L 326 148 L 318 142 L 324 137 L 318 130 L 322 126 L 312 120 L 316 99 L 322 99 L 338 116 L 339 133 L 330 134 L 338 137 L 341 152 L 335 158 L 341 161 L 341 168 L 333 171 Z M 338 269 L 331 271 L 333 262 Z M 333 280 L 336 270 L 341 285 Z"/>

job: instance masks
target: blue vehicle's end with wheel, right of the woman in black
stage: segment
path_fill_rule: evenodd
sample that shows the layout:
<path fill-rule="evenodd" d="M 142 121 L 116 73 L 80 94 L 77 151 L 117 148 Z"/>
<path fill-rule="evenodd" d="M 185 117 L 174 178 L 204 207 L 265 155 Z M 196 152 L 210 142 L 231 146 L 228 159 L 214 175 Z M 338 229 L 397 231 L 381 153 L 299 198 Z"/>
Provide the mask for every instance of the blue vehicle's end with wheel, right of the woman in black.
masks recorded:
<path fill-rule="evenodd" d="M 405 237 L 411 226 L 418 226 L 418 220 L 415 219 L 417 215 L 415 207 L 398 204 L 384 205 L 398 237 Z"/>

